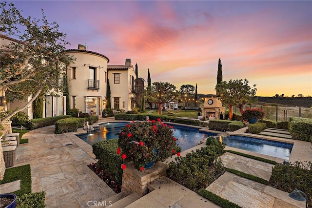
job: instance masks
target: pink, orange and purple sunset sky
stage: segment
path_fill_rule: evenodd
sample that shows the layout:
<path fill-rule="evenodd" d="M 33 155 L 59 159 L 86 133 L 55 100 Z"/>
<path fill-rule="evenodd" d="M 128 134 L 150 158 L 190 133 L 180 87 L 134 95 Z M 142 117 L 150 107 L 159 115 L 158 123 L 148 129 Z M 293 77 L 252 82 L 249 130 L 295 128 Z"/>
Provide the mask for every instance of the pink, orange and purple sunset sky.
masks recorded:
<path fill-rule="evenodd" d="M 10 1 L 9 1 L 10 2 Z M 257 96 L 312 96 L 312 1 L 12 1 L 23 14 L 59 23 L 71 42 L 130 58 L 147 81 L 215 94 L 223 81 L 247 79 Z"/>

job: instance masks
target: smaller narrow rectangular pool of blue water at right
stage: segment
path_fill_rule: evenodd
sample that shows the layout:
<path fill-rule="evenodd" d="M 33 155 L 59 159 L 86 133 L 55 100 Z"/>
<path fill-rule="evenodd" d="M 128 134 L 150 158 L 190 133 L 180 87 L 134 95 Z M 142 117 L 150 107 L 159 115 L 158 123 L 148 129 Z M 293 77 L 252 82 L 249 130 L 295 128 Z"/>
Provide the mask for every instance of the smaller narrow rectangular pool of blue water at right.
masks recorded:
<path fill-rule="evenodd" d="M 244 149 L 252 152 L 257 152 L 264 155 L 278 157 L 289 160 L 292 152 L 292 144 L 277 142 L 265 139 L 256 139 L 252 137 L 243 136 L 230 136 L 217 138 L 227 146 L 231 146 L 238 149 Z"/>

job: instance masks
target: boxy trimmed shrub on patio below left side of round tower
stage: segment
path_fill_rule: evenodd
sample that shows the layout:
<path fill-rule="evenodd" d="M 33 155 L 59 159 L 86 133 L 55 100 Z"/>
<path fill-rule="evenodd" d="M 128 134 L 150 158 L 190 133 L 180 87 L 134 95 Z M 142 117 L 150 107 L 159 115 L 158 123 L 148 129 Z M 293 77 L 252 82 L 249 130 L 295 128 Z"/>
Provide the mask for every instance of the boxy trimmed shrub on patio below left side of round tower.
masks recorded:
<path fill-rule="evenodd" d="M 66 132 L 75 132 L 77 131 L 78 126 L 78 118 L 60 119 L 55 124 L 55 133 L 62 134 Z"/>

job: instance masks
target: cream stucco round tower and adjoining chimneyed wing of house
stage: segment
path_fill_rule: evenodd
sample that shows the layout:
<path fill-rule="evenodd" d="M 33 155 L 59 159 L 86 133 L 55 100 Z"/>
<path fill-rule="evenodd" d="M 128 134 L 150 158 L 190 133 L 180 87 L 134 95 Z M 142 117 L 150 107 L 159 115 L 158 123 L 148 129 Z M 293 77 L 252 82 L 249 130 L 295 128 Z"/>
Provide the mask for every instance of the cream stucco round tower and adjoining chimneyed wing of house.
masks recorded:
<path fill-rule="evenodd" d="M 78 49 L 66 50 L 66 53 L 76 58 L 66 69 L 70 108 L 101 116 L 107 106 L 107 79 L 111 108 L 124 111 L 133 108 L 135 70 L 131 59 L 126 59 L 124 65 L 108 65 L 109 59 L 105 55 L 88 51 L 80 44 Z"/>

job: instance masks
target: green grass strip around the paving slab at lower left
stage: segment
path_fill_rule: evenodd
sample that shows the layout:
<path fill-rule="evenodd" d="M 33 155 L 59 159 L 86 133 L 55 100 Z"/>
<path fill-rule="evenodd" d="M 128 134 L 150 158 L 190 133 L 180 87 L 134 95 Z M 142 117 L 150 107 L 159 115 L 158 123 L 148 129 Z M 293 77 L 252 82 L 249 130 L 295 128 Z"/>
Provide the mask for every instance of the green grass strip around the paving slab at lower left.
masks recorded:
<path fill-rule="evenodd" d="M 13 193 L 17 196 L 21 196 L 25 193 L 31 193 L 30 165 L 6 168 L 3 180 L 0 181 L 0 184 L 18 180 L 20 180 L 20 190 L 14 191 Z"/>

